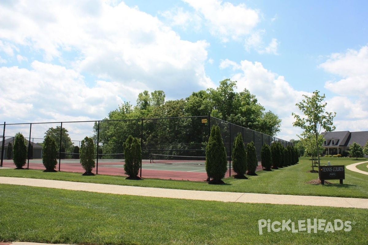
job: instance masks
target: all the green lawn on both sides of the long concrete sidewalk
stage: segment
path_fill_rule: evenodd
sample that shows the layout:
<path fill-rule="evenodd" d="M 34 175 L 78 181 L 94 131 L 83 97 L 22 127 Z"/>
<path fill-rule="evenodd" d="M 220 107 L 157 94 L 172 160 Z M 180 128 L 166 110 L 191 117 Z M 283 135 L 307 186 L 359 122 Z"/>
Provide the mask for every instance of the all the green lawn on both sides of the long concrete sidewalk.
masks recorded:
<path fill-rule="evenodd" d="M 328 158 L 332 165 L 348 165 L 351 158 Z M 327 160 L 321 159 L 322 165 Z M 82 176 L 81 173 L 44 173 L 40 170 L 0 169 L 0 176 L 28 177 L 103 184 L 137 185 L 187 190 L 255 192 L 368 198 L 368 175 L 346 169 L 344 184 L 307 184 L 317 179 L 311 161 L 272 172 L 259 171 L 248 180 L 226 178 L 225 185 L 206 182 L 119 176 Z M 0 241 L 65 244 L 368 244 L 368 209 L 259 203 L 225 203 L 170 198 L 101 194 L 52 188 L 0 184 Z M 259 220 L 326 220 L 334 232 L 299 231 L 259 234 Z M 351 230 L 335 230 L 335 220 L 351 221 Z M 305 222 L 306 223 L 306 222 Z M 277 228 L 278 225 L 276 224 Z M 281 227 L 281 226 L 280 226 Z M 291 224 L 288 226 L 291 227 Z M 329 226 L 329 228 L 331 228 Z M 339 224 L 337 224 L 339 228 Z M 346 227 L 345 227 L 346 228 Z"/>

